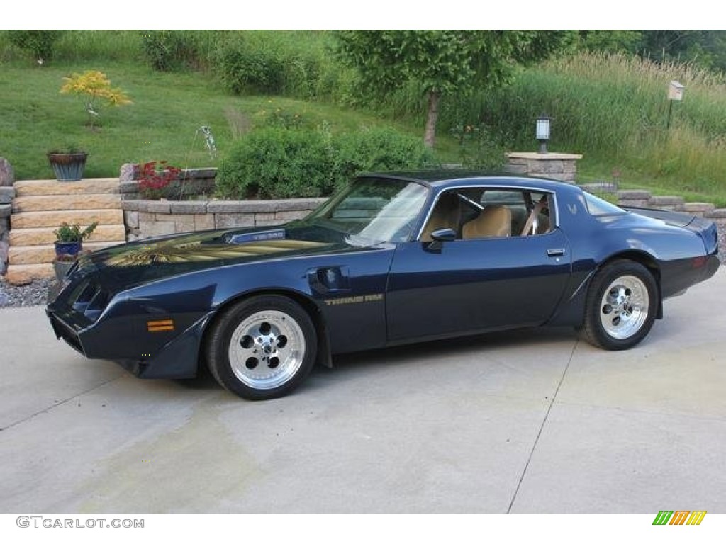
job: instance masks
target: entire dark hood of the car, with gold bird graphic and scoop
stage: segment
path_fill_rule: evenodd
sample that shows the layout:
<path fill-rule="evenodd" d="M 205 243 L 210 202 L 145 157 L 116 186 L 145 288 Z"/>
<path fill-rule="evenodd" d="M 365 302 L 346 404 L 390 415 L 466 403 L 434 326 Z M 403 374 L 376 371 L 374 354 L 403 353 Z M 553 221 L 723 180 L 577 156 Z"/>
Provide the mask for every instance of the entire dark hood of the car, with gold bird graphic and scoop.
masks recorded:
<path fill-rule="evenodd" d="M 356 244 L 341 233 L 319 227 L 236 228 L 163 236 L 109 247 L 82 257 L 75 273 L 94 273 L 102 283 L 128 289 L 208 268 L 364 247 L 365 244 Z"/>

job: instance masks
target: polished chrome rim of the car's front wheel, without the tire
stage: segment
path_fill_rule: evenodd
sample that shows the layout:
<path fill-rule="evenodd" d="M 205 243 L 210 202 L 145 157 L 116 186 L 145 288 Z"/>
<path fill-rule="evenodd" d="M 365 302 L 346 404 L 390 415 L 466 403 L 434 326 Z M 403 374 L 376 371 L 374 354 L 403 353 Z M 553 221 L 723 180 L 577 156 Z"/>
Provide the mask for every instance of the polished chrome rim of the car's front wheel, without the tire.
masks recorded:
<path fill-rule="evenodd" d="M 295 376 L 305 349 L 305 337 L 295 319 L 277 310 L 260 311 L 234 329 L 229 363 L 243 384 L 270 390 Z"/>

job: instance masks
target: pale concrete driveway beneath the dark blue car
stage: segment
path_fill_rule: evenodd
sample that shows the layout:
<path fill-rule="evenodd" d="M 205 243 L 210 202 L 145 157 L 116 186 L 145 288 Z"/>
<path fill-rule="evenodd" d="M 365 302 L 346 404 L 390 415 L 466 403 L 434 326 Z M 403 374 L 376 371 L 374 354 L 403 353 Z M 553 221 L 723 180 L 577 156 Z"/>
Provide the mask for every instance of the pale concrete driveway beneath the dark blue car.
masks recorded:
<path fill-rule="evenodd" d="M 0 310 L 0 513 L 726 513 L 726 270 L 625 353 L 568 329 L 341 357 L 250 403 Z"/>

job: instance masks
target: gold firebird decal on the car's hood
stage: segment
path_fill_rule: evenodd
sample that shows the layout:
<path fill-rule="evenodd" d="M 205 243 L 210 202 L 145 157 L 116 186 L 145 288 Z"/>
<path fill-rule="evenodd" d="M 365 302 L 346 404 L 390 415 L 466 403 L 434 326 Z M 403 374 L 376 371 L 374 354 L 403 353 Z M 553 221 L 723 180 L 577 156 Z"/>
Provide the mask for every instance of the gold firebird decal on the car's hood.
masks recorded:
<path fill-rule="evenodd" d="M 181 238 L 163 240 L 138 247 L 119 247 L 119 252 L 105 260 L 107 266 L 144 266 L 154 263 L 199 263 L 201 261 L 272 255 L 274 253 L 307 250 L 330 244 L 306 240 L 272 239 L 242 244 L 203 244 L 219 239 L 219 232 L 210 234 L 191 234 Z M 109 252 L 114 253 L 115 248 Z"/>

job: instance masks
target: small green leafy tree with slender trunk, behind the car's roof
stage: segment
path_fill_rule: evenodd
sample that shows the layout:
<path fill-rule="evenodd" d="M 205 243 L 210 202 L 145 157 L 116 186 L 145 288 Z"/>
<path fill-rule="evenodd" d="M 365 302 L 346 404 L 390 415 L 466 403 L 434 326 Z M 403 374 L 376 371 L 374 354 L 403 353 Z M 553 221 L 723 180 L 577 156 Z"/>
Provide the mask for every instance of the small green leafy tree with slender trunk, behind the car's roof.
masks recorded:
<path fill-rule="evenodd" d="M 343 30 L 343 61 L 359 70 L 365 90 L 383 95 L 416 81 L 428 99 L 424 141 L 433 147 L 439 100 L 494 87 L 517 64 L 549 56 L 575 38 L 569 31 Z"/>

